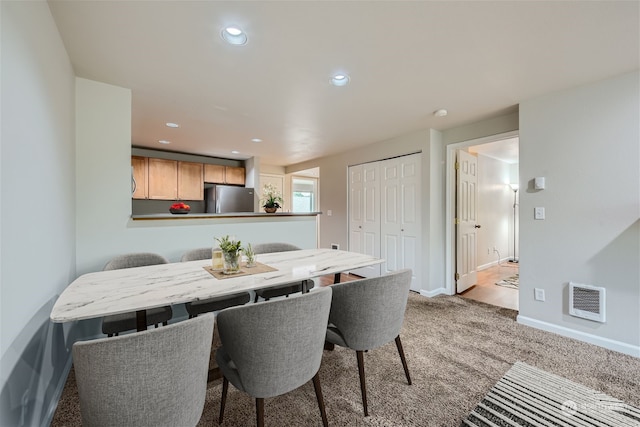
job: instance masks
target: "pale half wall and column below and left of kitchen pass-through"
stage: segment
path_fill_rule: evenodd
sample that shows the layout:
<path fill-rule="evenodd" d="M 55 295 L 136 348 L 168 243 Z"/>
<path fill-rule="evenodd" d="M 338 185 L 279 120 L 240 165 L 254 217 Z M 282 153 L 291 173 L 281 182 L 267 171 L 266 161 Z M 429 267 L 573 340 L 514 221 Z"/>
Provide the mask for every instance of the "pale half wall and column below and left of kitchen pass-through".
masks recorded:
<path fill-rule="evenodd" d="M 127 252 L 179 261 L 214 237 L 316 247 L 316 217 L 131 220 L 131 92 L 77 79 L 77 273 L 101 270 Z M 256 165 L 253 166 L 256 169 Z"/>

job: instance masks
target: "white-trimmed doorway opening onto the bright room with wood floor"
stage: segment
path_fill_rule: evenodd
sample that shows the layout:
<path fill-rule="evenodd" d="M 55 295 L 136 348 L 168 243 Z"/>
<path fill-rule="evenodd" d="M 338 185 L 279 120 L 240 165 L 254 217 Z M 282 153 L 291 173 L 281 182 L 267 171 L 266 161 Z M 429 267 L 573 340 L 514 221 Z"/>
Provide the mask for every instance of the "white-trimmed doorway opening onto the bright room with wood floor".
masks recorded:
<path fill-rule="evenodd" d="M 473 260 L 473 284 L 457 286 L 456 278 L 465 278 L 458 274 L 461 256 L 457 244 L 459 237 L 456 199 L 457 185 L 455 169 L 458 150 L 475 156 L 478 160 L 477 207 L 478 214 L 471 227 L 475 225 L 474 251 L 469 255 L 469 246 L 464 259 Z M 492 137 L 451 144 L 447 147 L 446 176 L 446 215 L 450 218 L 446 226 L 446 289 L 450 295 L 479 299 L 484 302 L 517 309 L 518 274 L 518 201 L 517 191 L 513 190 L 518 179 L 518 133 L 509 132 Z M 467 154 L 468 157 L 468 154 Z M 517 188 L 517 187 L 516 187 Z M 460 224 L 460 219 L 457 219 Z M 468 225 L 467 225 L 468 226 Z M 464 234 L 463 234 L 464 236 Z M 468 242 L 467 242 L 468 243 Z M 515 262 L 514 262 L 515 261 Z M 468 274 L 466 274 L 468 276 Z M 477 279 L 476 279 L 477 276 Z M 515 286 L 496 285 L 505 279 L 514 279 Z M 465 278 L 466 279 L 466 278 Z M 468 281 L 468 280 L 467 280 Z"/>

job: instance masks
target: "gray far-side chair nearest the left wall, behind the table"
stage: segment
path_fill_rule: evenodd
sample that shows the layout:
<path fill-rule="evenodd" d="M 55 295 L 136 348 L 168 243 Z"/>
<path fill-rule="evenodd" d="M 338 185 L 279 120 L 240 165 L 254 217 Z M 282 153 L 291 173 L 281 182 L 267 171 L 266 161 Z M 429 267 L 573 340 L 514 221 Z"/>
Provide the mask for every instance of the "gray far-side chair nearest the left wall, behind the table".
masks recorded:
<path fill-rule="evenodd" d="M 109 261 L 103 270 L 120 270 L 123 268 L 143 267 L 145 265 L 168 264 L 162 255 L 138 252 L 120 255 Z M 160 323 L 167 326 L 169 319 L 173 316 L 173 310 L 170 306 L 151 308 L 147 310 L 147 326 L 155 325 L 157 328 Z M 135 330 L 136 313 L 122 313 L 105 316 L 102 319 L 102 333 L 112 337 L 120 332 Z"/>

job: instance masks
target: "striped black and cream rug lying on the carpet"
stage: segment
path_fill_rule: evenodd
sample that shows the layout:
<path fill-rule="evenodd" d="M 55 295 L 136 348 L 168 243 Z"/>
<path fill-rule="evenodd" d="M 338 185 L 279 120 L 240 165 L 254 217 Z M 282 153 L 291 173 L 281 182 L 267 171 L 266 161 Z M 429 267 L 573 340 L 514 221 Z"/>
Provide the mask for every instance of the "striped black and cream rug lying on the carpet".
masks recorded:
<path fill-rule="evenodd" d="M 640 410 L 516 362 L 462 426 L 640 427 Z"/>

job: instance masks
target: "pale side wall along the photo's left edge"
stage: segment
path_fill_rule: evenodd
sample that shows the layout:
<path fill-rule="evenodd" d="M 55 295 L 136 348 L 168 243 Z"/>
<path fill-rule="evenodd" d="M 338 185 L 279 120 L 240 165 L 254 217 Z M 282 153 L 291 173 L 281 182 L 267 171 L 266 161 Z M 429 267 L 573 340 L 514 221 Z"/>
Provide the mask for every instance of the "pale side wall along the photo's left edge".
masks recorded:
<path fill-rule="evenodd" d="M 46 2 L 0 8 L 0 425 L 43 425 L 69 366 L 49 313 L 75 277 L 74 75 Z"/>

